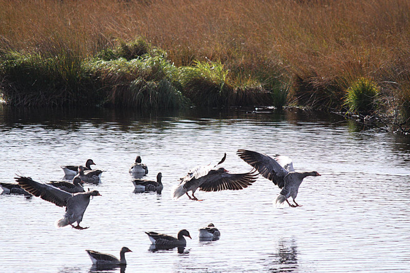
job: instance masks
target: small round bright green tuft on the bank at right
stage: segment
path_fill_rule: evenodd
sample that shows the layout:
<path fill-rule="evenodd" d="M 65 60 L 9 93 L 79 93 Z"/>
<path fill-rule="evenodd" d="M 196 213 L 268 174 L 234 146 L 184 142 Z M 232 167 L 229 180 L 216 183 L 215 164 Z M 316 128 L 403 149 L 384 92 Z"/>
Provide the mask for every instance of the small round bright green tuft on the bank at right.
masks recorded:
<path fill-rule="evenodd" d="M 346 92 L 344 105 L 352 113 L 371 115 L 377 110 L 380 90 L 374 81 L 359 78 Z"/>

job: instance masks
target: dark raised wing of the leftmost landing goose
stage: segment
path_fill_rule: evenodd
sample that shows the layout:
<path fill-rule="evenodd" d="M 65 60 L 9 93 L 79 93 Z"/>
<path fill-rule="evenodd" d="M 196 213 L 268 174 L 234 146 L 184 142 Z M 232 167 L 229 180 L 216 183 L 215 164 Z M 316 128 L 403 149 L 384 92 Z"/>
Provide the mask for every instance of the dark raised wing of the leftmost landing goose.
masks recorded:
<path fill-rule="evenodd" d="M 72 196 L 70 193 L 60 190 L 54 186 L 38 183 L 25 176 L 15 177 L 14 179 L 16 179 L 18 185 L 20 185 L 20 187 L 28 193 L 52 202 L 58 207 L 67 206 L 67 200 Z"/>

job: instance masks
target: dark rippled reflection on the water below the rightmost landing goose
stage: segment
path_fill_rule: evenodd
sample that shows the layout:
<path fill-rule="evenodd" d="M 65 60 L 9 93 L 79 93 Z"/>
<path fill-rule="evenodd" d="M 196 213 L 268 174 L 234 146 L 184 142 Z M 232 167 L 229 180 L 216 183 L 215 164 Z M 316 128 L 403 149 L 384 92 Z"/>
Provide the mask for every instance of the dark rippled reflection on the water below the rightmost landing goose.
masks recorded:
<path fill-rule="evenodd" d="M 296 241 L 281 240 L 276 253 L 269 254 L 270 272 L 293 272 L 298 268 L 298 250 Z"/>

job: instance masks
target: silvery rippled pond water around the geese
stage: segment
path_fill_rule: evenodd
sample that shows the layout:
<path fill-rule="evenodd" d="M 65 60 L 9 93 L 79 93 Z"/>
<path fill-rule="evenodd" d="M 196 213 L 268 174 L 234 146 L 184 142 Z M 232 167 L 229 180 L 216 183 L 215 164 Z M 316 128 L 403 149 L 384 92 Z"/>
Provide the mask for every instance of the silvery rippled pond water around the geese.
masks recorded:
<path fill-rule="evenodd" d="M 299 111 L 219 110 L 141 115 L 10 110 L 0 106 L 0 181 L 15 174 L 59 180 L 59 168 L 92 158 L 104 169 L 102 196 L 90 201 L 81 225 L 57 229 L 64 209 L 37 197 L 0 195 L 1 272 L 120 272 L 92 267 L 85 249 L 119 256 L 126 272 L 409 272 L 410 138 L 358 131 L 338 117 Z M 175 201 L 171 189 L 198 164 L 231 172 L 252 168 L 236 150 L 284 154 L 303 181 L 301 208 L 275 207 L 279 189 L 258 178 L 241 191 L 201 192 L 201 202 Z M 139 154 L 148 178 L 162 172 L 164 190 L 134 193 L 128 168 Z M 1 191 L 1 190 L 0 190 Z M 220 240 L 200 242 L 214 223 Z M 151 251 L 144 231 L 190 231 L 185 249 Z M 124 271 L 124 268 L 122 268 Z"/>

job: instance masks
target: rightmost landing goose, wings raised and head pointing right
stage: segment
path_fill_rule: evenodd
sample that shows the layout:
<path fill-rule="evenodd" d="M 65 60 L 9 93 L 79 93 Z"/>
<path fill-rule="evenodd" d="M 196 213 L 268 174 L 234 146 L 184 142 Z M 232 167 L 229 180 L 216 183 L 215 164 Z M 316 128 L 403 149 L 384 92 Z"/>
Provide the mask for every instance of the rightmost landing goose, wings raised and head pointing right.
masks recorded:
<path fill-rule="evenodd" d="M 291 158 L 285 155 L 276 155 L 275 159 L 264 154 L 249 150 L 239 149 L 237 151 L 242 160 L 254 167 L 263 177 L 271 180 L 273 184 L 282 189 L 276 198 L 276 203 L 288 202 L 290 207 L 301 207 L 295 198 L 298 195 L 299 186 L 306 176 L 321 176 L 318 172 L 296 172 L 293 168 Z M 288 200 L 293 198 L 295 204 Z"/>

